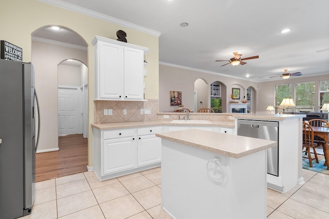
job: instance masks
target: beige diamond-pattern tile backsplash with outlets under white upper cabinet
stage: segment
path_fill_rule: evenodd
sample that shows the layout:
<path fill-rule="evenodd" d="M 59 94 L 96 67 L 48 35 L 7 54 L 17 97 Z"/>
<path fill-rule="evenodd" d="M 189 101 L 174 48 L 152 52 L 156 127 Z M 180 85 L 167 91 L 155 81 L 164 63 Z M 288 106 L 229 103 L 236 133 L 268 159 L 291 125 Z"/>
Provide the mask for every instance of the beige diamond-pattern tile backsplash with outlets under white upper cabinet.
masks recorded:
<path fill-rule="evenodd" d="M 157 120 L 158 100 L 148 101 L 109 101 L 95 100 L 94 122 L 137 122 Z M 151 109 L 151 114 L 140 114 L 140 109 Z M 112 115 L 104 116 L 104 109 L 112 109 Z M 127 114 L 123 114 L 126 109 Z"/>

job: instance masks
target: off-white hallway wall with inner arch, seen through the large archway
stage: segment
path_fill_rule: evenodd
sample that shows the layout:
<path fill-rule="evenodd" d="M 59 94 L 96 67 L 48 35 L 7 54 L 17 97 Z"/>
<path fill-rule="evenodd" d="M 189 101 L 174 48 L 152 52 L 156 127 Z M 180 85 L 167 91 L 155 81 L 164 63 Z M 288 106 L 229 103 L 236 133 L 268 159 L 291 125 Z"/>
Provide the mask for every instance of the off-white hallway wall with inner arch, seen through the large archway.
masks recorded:
<path fill-rule="evenodd" d="M 32 41 L 31 48 L 41 111 L 38 151 L 53 151 L 58 149 L 58 65 L 66 59 L 87 63 L 87 51 L 36 41 Z"/>

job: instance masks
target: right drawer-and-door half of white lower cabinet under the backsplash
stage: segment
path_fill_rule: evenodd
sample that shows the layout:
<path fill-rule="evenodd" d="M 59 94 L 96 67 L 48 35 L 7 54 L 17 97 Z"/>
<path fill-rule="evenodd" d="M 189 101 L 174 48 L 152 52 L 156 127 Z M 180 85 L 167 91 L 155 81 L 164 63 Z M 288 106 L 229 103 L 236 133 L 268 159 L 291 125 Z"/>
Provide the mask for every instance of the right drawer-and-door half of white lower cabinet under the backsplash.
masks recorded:
<path fill-rule="evenodd" d="M 137 167 L 161 161 L 161 138 L 156 133 L 162 132 L 162 126 L 137 129 Z"/>

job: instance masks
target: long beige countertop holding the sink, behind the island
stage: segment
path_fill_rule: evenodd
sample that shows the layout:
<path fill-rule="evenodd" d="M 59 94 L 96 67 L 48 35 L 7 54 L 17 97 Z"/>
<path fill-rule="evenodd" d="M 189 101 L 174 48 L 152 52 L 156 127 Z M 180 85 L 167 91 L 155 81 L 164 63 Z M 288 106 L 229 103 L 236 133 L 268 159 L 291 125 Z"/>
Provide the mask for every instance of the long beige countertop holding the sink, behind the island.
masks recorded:
<path fill-rule="evenodd" d="M 127 129 L 131 127 L 145 127 L 155 125 L 170 125 L 170 126 L 221 126 L 221 127 L 234 127 L 234 120 L 232 122 L 225 121 L 211 121 L 211 123 L 171 123 L 169 121 L 139 121 L 139 122 L 114 122 L 114 123 L 94 123 L 92 127 L 99 130 L 112 130 L 112 129 Z"/>

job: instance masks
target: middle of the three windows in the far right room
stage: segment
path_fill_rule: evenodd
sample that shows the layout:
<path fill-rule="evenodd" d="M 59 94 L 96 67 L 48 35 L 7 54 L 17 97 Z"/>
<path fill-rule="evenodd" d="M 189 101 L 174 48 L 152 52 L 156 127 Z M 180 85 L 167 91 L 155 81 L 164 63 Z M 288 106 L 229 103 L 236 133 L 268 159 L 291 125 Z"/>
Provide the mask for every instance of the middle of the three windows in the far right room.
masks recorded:
<path fill-rule="evenodd" d="M 295 93 L 296 112 L 315 112 L 315 82 L 296 83 Z"/>

